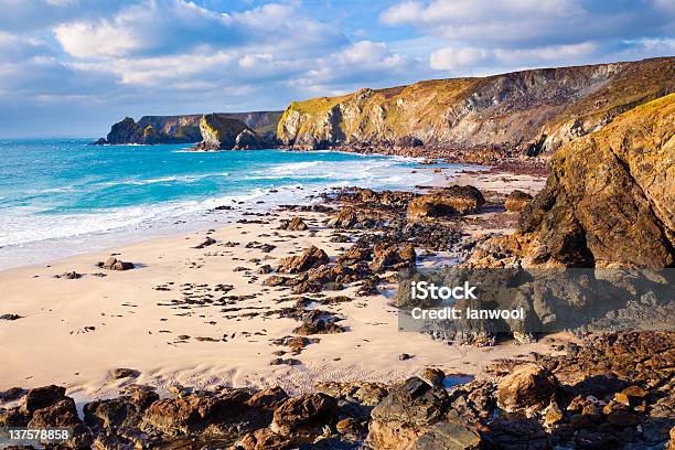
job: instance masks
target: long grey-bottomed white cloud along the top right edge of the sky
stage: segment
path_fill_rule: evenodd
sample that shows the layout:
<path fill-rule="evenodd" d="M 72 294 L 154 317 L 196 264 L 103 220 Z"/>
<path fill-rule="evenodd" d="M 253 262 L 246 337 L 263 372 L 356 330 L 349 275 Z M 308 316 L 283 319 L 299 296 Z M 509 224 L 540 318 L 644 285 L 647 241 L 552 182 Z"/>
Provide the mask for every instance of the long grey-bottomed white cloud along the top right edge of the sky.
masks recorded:
<path fill-rule="evenodd" d="M 454 45 L 534 47 L 636 38 L 647 28 L 650 33 L 668 33 L 675 15 L 672 4 L 672 0 L 645 0 L 634 8 L 597 0 L 407 0 L 386 9 L 379 21 L 417 26 Z"/>

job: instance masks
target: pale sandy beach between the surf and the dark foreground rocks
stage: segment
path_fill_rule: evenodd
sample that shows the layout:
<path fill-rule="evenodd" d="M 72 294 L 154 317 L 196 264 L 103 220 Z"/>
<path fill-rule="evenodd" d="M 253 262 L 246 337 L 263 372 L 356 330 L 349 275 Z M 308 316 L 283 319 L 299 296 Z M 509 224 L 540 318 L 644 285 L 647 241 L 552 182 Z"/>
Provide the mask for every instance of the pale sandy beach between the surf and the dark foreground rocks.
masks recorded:
<path fill-rule="evenodd" d="M 448 182 L 507 193 L 512 178 L 521 189 L 536 191 L 542 185 L 540 179 L 527 175 L 488 173 L 462 174 Z M 309 229 L 278 229 L 280 221 L 292 216 L 302 217 Z M 326 228 L 325 219 L 319 213 L 272 211 L 214 231 L 0 272 L 0 313 L 21 317 L 0 321 L 4 361 L 0 385 L 56 383 L 82 399 L 116 395 L 131 382 L 160 390 L 174 384 L 196 388 L 279 385 L 301 393 L 322 381 L 392 383 L 430 366 L 451 374 L 480 374 L 484 364 L 496 358 L 550 351 L 550 341 L 478 349 L 399 332 L 397 311 L 387 296 L 353 297 L 350 287 L 314 296 L 346 296 L 347 301 L 321 307 L 344 318 L 340 323 L 346 332 L 312 336 L 319 342 L 293 355 L 298 365 L 270 365 L 274 352 L 289 350 L 274 341 L 290 336 L 298 325 L 293 319 L 279 318 L 278 311 L 294 304 L 298 296 L 265 287 L 269 275 L 258 270 L 265 265 L 276 268 L 281 258 L 311 245 L 333 260 L 351 244 L 331 242 L 334 231 Z M 476 228 L 486 231 L 469 225 L 468 233 Z M 215 244 L 195 248 L 206 237 Z M 266 244 L 274 248 L 260 248 Z M 96 267 L 111 256 L 136 268 Z M 72 271 L 82 277 L 55 278 Z M 399 361 L 401 353 L 413 357 Z M 119 367 L 138 371 L 138 376 L 114 379 L 110 372 Z"/>

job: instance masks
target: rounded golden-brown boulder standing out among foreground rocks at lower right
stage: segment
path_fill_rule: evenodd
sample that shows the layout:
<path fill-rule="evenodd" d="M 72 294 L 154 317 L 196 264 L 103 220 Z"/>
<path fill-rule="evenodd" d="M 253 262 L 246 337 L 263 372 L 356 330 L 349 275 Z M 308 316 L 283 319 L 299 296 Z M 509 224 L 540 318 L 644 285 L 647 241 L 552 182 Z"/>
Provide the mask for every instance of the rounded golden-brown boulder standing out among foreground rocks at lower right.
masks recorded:
<path fill-rule="evenodd" d="M 547 407 L 558 383 L 544 367 L 523 364 L 497 384 L 497 405 L 507 413 L 532 414 Z"/>

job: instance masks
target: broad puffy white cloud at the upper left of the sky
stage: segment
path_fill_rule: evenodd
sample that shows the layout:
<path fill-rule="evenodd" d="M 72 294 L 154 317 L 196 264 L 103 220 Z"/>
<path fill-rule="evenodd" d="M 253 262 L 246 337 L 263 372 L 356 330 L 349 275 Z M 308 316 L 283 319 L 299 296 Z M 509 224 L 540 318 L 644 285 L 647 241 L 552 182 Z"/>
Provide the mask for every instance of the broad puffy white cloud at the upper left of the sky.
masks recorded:
<path fill-rule="evenodd" d="M 109 19 L 62 23 L 54 33 L 79 58 L 189 53 L 197 46 L 272 45 L 307 53 L 346 42 L 339 30 L 303 18 L 292 6 L 269 3 L 228 14 L 185 0 L 144 0 Z"/>

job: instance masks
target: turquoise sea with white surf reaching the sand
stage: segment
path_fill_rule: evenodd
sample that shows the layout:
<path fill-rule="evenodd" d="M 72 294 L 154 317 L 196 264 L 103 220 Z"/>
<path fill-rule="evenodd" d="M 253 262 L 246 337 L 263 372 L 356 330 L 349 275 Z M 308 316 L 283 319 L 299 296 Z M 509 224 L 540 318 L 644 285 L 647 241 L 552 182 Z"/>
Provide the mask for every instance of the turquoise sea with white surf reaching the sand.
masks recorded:
<path fill-rule="evenodd" d="M 92 140 L 0 140 L 0 270 L 207 229 L 333 188 L 409 189 L 432 179 L 399 157 Z"/>

